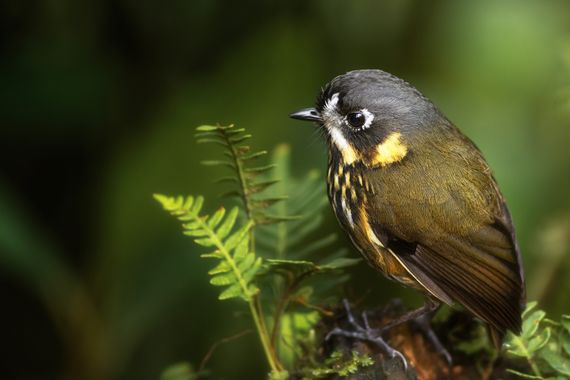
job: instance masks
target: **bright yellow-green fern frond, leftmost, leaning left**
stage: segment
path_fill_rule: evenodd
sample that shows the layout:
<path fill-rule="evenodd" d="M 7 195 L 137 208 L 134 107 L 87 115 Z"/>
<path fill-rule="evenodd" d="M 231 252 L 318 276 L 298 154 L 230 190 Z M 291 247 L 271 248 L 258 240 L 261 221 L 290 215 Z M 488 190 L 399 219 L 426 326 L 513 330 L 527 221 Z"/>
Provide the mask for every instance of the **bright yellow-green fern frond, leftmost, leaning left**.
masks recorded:
<path fill-rule="evenodd" d="M 198 245 L 214 248 L 214 251 L 201 255 L 218 260 L 218 264 L 208 274 L 210 284 L 225 289 L 220 300 L 242 298 L 251 301 L 259 292 L 253 279 L 262 266 L 260 257 L 249 249 L 248 232 L 252 222 L 236 228 L 237 207 L 229 212 L 218 209 L 213 215 L 200 215 L 203 197 L 169 197 L 155 194 L 154 198 L 171 215 L 184 222 L 184 235 L 190 236 Z"/>

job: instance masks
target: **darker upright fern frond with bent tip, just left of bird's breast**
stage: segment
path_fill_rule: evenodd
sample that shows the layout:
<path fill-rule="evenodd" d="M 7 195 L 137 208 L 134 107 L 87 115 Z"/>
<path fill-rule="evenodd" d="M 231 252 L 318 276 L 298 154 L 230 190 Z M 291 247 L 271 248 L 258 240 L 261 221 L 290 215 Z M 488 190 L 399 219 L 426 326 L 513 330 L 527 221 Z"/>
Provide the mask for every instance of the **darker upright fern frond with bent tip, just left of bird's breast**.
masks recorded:
<path fill-rule="evenodd" d="M 254 224 L 278 223 L 282 218 L 276 218 L 265 212 L 265 209 L 274 203 L 284 200 L 283 197 L 264 197 L 260 193 L 274 185 L 277 181 L 259 180 L 260 175 L 271 171 L 275 165 L 258 165 L 252 163 L 265 156 L 267 151 L 252 151 L 245 145 L 245 141 L 251 138 L 244 128 L 236 128 L 234 125 L 213 126 L 202 125 L 196 128 L 198 143 L 214 143 L 222 146 L 223 159 L 202 161 L 208 166 L 223 166 L 231 169 L 235 177 L 224 177 L 223 182 L 231 182 L 237 185 L 235 189 L 228 191 L 223 196 L 238 196 L 243 204 L 249 220 Z"/>

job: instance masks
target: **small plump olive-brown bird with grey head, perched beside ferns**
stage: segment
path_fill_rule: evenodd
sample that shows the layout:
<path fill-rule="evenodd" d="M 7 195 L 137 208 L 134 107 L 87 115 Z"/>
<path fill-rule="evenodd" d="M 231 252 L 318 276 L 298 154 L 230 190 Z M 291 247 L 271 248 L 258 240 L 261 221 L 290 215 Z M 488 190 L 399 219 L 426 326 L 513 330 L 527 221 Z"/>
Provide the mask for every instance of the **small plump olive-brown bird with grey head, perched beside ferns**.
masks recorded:
<path fill-rule="evenodd" d="M 396 323 L 460 304 L 497 347 L 506 330 L 520 333 L 526 292 L 511 215 L 479 149 L 428 98 L 387 72 L 356 70 L 290 116 L 324 132 L 328 198 L 354 246 L 426 295 Z"/>

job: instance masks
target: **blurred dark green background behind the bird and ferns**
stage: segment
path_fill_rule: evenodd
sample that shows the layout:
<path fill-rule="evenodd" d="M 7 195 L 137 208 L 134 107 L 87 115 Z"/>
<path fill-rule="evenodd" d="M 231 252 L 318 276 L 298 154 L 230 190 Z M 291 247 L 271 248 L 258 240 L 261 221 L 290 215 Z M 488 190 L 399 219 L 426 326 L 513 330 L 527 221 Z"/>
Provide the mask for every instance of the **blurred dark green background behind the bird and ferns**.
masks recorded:
<path fill-rule="evenodd" d="M 287 115 L 357 68 L 405 78 L 477 142 L 529 298 L 569 313 L 568 15 L 562 0 L 3 0 L 0 377 L 157 379 L 248 328 L 151 194 L 222 202 L 193 139 L 204 123 L 324 172 L 322 142 Z M 328 210 L 322 230 L 338 230 Z M 418 302 L 364 264 L 351 273 L 370 305 Z M 262 378 L 256 339 L 221 346 L 212 377 Z"/>

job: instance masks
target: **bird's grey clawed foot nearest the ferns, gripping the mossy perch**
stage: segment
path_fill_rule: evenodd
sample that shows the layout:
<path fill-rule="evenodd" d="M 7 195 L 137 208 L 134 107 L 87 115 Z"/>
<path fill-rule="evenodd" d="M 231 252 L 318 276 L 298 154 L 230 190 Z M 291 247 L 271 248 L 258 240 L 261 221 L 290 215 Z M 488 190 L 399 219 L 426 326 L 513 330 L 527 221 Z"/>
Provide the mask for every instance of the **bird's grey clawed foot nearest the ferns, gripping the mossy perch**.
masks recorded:
<path fill-rule="evenodd" d="M 361 340 L 364 342 L 373 343 L 373 344 L 377 345 L 390 358 L 395 358 L 395 357 L 400 358 L 400 360 L 402 360 L 402 363 L 404 365 L 404 369 L 407 371 L 408 370 L 408 361 L 406 360 L 406 357 L 400 351 L 392 348 L 382 338 L 382 333 L 385 331 L 385 329 L 373 329 L 373 328 L 371 328 L 370 324 L 368 322 L 368 316 L 366 315 L 366 312 L 362 313 L 362 322 L 363 322 L 364 326 L 360 325 L 356 321 L 356 318 L 354 317 L 354 315 L 352 314 L 352 311 L 350 310 L 350 305 L 348 304 L 348 301 L 343 300 L 343 304 L 344 304 L 344 308 L 346 310 L 348 323 L 352 326 L 352 328 L 354 330 L 345 330 L 345 329 L 341 329 L 339 327 L 335 327 L 332 331 L 330 331 L 327 334 L 325 339 L 329 340 L 333 336 L 343 336 L 346 338 L 358 339 L 358 340 Z"/>

